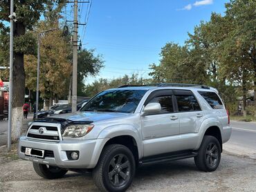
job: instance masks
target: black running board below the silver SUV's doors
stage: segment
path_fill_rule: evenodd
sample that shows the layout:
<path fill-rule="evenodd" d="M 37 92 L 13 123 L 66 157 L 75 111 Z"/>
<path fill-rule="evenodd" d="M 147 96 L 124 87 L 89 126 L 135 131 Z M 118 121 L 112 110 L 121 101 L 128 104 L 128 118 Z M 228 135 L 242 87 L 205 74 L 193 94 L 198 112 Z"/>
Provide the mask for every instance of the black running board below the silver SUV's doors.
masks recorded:
<path fill-rule="evenodd" d="M 182 160 L 190 157 L 195 157 L 197 155 L 196 152 L 184 152 L 184 153 L 168 153 L 165 155 L 154 155 L 152 157 L 145 157 L 139 161 L 140 166 L 146 166 L 149 164 L 160 164 L 164 162 L 170 162 L 174 160 Z"/>

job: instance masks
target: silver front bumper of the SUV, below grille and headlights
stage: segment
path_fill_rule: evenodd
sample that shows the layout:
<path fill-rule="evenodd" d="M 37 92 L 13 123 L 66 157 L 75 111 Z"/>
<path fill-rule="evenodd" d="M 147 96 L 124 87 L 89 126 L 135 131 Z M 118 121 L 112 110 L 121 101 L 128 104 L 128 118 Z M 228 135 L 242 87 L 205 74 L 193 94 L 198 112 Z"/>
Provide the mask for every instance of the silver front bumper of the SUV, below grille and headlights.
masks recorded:
<path fill-rule="evenodd" d="M 40 164 L 59 166 L 65 169 L 92 169 L 98 162 L 100 153 L 108 139 L 95 140 L 62 140 L 60 142 L 43 142 L 31 140 L 23 136 L 19 138 L 18 155 L 23 160 L 30 160 Z M 54 157 L 33 157 L 21 152 L 21 147 L 37 148 L 53 151 Z M 66 151 L 79 151 L 78 160 L 68 160 Z"/>

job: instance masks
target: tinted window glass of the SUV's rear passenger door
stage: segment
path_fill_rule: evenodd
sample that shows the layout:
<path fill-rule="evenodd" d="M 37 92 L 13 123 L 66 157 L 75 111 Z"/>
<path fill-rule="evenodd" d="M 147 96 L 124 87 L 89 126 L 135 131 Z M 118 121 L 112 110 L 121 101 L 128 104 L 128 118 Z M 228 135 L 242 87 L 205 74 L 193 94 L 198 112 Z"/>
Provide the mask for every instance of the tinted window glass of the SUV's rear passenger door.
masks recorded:
<path fill-rule="evenodd" d="M 194 95 L 176 95 L 179 111 L 201 111 Z"/>

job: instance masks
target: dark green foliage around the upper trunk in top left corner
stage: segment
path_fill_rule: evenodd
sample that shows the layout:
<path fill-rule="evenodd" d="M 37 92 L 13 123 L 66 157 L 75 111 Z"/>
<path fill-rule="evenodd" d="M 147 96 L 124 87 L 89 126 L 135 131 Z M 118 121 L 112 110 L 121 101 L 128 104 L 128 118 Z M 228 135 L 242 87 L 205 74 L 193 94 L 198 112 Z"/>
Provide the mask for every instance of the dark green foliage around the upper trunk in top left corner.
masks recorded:
<path fill-rule="evenodd" d="M 46 5 L 56 1 L 49 0 L 22 0 L 15 1 L 15 13 L 17 21 L 15 22 L 15 38 L 14 38 L 14 52 L 19 54 L 35 54 L 35 37 L 30 33 L 26 34 L 26 30 L 33 30 L 33 26 L 39 20 L 44 12 Z M 10 1 L 0 1 L 0 39 L 4 39 L 5 44 L 0 46 L 8 46 L 9 37 L 8 32 L 10 28 L 6 26 L 6 21 L 10 21 Z"/>

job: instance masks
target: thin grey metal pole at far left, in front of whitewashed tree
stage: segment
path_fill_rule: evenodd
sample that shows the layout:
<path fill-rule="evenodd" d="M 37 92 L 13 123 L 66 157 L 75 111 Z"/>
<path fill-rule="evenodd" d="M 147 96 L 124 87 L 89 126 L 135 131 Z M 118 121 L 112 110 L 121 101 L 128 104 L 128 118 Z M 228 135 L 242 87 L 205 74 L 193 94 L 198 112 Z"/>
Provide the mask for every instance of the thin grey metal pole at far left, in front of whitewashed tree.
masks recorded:
<path fill-rule="evenodd" d="M 7 150 L 10 151 L 12 142 L 12 66 L 13 66 L 13 19 L 15 19 L 15 12 L 13 12 L 13 0 L 10 0 L 10 77 L 9 77 L 9 104 L 8 104 L 8 141 Z"/>

